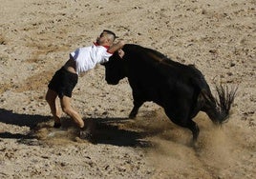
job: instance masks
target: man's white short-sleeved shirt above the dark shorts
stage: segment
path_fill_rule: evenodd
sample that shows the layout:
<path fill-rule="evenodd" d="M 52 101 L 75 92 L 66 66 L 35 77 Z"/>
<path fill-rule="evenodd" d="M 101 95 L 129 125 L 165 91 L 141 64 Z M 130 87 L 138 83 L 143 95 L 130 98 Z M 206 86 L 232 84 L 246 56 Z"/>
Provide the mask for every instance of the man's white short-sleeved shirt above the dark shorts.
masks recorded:
<path fill-rule="evenodd" d="M 112 56 L 112 53 L 108 52 L 108 48 L 94 43 L 93 46 L 79 48 L 71 52 L 70 54 L 75 60 L 76 73 L 91 70 L 96 67 L 97 63 L 107 62 Z"/>

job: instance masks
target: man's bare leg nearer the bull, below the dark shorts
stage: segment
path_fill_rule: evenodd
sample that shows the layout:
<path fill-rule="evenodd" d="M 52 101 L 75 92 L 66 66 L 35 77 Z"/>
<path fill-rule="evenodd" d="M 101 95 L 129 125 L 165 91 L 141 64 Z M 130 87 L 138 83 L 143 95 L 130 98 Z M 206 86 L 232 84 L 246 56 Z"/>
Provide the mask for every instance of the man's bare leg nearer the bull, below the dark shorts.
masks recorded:
<path fill-rule="evenodd" d="M 78 112 L 75 111 L 75 109 L 73 109 L 71 107 L 71 98 L 70 97 L 64 95 L 60 99 L 60 105 L 61 105 L 62 110 L 75 121 L 75 124 L 79 128 L 84 127 L 84 121 L 82 120 L 81 116 L 78 114 Z"/>

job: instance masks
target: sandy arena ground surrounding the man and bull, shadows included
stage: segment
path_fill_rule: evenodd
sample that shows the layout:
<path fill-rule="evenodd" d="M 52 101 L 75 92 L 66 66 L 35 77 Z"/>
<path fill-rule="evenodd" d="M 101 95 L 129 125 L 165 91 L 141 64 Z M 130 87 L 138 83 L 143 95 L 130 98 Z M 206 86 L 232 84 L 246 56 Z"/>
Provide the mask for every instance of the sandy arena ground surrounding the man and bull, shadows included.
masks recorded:
<path fill-rule="evenodd" d="M 0 178 L 256 178 L 255 0 L 0 0 Z M 200 113 L 191 133 L 145 103 L 135 120 L 127 80 L 104 81 L 96 66 L 73 104 L 93 121 L 94 143 L 77 138 L 63 114 L 53 120 L 44 96 L 69 52 L 90 46 L 103 29 L 127 43 L 195 64 L 214 82 L 239 85 L 221 129 Z"/>

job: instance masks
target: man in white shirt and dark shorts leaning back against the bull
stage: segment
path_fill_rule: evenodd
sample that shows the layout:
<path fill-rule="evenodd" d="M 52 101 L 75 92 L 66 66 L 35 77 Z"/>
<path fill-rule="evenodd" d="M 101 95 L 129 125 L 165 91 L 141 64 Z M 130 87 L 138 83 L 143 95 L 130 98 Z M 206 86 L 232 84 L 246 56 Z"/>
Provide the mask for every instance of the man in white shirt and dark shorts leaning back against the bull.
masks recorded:
<path fill-rule="evenodd" d="M 81 72 L 91 70 L 96 67 L 96 64 L 108 61 L 116 50 L 118 50 L 120 56 L 123 55 L 121 48 L 124 46 L 124 42 L 114 43 L 116 38 L 117 36 L 113 31 L 103 30 L 92 46 L 79 48 L 71 52 L 70 59 L 66 64 L 54 73 L 46 93 L 46 101 L 53 113 L 54 128 L 60 128 L 61 126 L 61 111 L 56 105 L 58 96 L 61 109 L 74 120 L 80 129 L 85 129 L 80 114 L 71 106 L 72 91 Z"/>

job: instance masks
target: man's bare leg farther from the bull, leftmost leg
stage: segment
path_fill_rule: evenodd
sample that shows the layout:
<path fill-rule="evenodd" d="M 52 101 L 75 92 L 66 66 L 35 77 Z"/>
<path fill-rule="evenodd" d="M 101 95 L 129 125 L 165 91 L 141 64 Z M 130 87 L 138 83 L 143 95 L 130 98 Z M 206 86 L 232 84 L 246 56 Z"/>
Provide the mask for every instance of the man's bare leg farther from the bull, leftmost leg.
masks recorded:
<path fill-rule="evenodd" d="M 48 89 L 45 99 L 49 104 L 51 112 L 53 114 L 54 125 L 60 125 L 61 110 L 57 107 L 56 97 L 57 93 L 52 89 Z"/>

